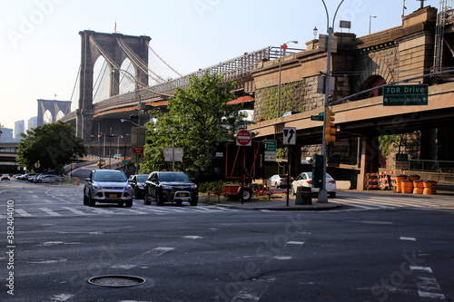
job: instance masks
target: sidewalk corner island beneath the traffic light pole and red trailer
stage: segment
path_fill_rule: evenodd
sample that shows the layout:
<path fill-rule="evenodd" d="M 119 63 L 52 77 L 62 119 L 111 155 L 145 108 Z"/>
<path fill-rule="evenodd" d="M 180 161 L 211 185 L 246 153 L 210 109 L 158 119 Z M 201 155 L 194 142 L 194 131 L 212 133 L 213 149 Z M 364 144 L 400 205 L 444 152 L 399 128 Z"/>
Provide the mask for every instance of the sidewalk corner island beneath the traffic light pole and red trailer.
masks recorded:
<path fill-rule="evenodd" d="M 213 197 L 212 197 L 213 198 Z M 206 199 L 202 197 L 201 202 Z M 216 197 L 217 199 L 217 197 Z M 217 203 L 218 207 L 226 208 L 237 208 L 237 209 L 262 209 L 262 210 L 328 210 L 328 209 L 339 209 L 341 208 L 340 203 L 328 202 L 318 203 L 316 198 L 312 198 L 312 205 L 297 205 L 295 204 L 295 197 L 291 194 L 289 197 L 289 205 L 287 206 L 286 196 L 268 199 L 257 199 L 256 197 L 252 200 L 232 200 L 221 197 L 220 203 Z"/>

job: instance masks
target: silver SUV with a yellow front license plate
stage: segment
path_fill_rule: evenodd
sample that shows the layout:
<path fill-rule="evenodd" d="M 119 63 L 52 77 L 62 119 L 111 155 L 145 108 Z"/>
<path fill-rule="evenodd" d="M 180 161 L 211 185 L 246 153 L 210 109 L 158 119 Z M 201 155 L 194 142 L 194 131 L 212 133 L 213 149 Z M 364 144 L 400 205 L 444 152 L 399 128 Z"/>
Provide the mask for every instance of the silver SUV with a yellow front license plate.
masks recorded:
<path fill-rule="evenodd" d="M 84 205 L 94 207 L 96 202 L 133 206 L 133 187 L 121 170 L 92 170 L 85 179 Z"/>

